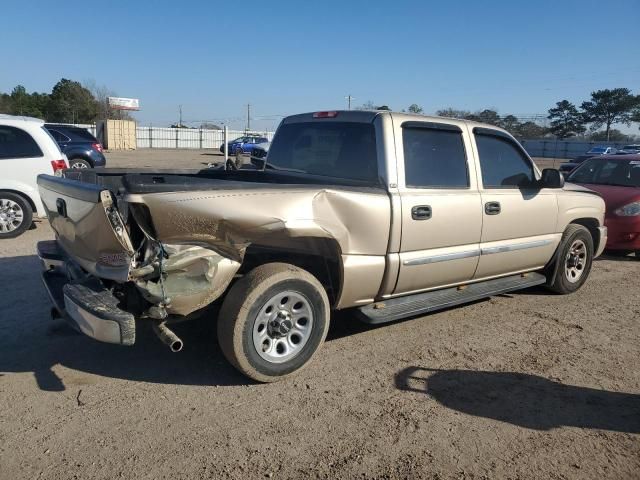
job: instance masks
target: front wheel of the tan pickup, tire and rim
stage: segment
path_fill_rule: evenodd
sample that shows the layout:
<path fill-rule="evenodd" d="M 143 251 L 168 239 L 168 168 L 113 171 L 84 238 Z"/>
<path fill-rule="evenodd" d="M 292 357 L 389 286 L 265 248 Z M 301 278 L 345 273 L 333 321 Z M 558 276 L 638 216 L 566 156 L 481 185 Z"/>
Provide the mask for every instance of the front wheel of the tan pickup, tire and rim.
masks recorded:
<path fill-rule="evenodd" d="M 578 251 L 584 252 L 581 267 L 578 267 L 577 257 L 573 250 L 575 245 L 581 245 Z M 553 284 L 549 285 L 549 289 L 561 295 L 575 292 L 587 280 L 592 263 L 593 237 L 591 237 L 591 233 L 582 225 L 569 225 L 558 246 L 555 280 Z M 577 275 L 575 272 L 579 272 L 579 276 L 573 277 L 574 274 Z"/>

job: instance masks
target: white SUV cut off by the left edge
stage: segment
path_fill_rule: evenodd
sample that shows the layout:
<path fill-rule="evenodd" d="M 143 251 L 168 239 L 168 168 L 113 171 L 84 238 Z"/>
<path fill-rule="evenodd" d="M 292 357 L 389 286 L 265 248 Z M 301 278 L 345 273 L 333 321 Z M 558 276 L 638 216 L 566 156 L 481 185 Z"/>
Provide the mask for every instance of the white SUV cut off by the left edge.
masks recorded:
<path fill-rule="evenodd" d="M 34 216 L 46 217 L 37 177 L 67 168 L 44 121 L 0 114 L 0 239 L 17 237 Z"/>

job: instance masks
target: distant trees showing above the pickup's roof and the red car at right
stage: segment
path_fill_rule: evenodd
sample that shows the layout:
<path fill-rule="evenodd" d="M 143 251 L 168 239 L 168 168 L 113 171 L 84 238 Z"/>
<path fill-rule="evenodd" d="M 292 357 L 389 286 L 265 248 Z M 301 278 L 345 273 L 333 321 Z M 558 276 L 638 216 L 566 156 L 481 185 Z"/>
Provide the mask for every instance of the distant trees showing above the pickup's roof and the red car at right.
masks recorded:
<path fill-rule="evenodd" d="M 362 110 L 390 110 L 387 105 L 375 106 L 368 101 L 359 107 Z M 423 113 L 422 107 L 413 103 L 406 110 L 410 113 Z M 640 123 L 640 95 L 633 95 L 628 88 L 597 90 L 591 98 L 576 107 L 569 100 L 561 100 L 547 111 L 544 117 L 549 120 L 548 126 L 540 125 L 534 120 L 522 121 L 515 115 L 500 116 L 495 109 L 476 112 L 445 108 L 438 110 L 440 117 L 459 118 L 488 123 L 504 128 L 518 138 L 540 138 L 552 136 L 558 139 L 583 137 L 596 141 L 626 140 L 625 135 L 613 125 L 630 126 Z M 604 127 L 603 130 L 600 130 Z"/>

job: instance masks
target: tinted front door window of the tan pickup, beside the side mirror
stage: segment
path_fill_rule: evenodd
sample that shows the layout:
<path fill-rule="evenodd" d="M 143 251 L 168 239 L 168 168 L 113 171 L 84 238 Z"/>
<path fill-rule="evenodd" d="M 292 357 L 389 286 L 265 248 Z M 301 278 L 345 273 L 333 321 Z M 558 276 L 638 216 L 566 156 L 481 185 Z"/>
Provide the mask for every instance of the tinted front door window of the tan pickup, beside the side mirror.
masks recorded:
<path fill-rule="evenodd" d="M 475 132 L 484 188 L 522 188 L 535 181 L 533 165 L 512 140 Z"/>

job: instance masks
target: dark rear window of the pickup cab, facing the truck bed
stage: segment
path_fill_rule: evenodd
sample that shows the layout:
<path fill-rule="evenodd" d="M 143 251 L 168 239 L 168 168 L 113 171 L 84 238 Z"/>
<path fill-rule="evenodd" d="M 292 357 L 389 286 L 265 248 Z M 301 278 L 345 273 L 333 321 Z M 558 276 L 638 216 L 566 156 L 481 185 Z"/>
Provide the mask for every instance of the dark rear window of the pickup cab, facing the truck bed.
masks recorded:
<path fill-rule="evenodd" d="M 373 125 L 322 121 L 281 125 L 269 148 L 269 164 L 312 175 L 378 183 Z"/>

